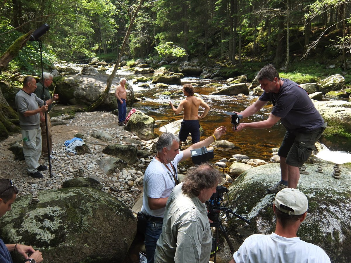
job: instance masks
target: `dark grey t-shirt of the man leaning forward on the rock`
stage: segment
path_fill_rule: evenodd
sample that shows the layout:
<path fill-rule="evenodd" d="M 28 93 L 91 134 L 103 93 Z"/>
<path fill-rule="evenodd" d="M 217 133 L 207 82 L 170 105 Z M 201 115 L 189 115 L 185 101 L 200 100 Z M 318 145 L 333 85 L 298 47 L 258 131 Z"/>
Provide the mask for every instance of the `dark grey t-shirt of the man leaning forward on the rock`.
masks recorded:
<path fill-rule="evenodd" d="M 306 90 L 289 79 L 282 80 L 279 93 L 263 92 L 259 100 L 275 102 L 272 114 L 282 118 L 280 120 L 288 131 L 304 133 L 322 127 L 324 120 Z"/>

